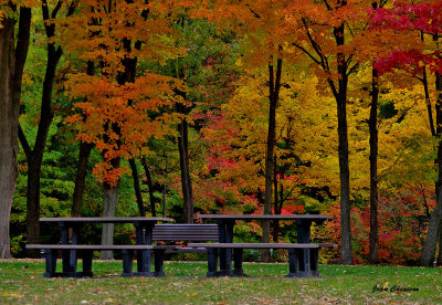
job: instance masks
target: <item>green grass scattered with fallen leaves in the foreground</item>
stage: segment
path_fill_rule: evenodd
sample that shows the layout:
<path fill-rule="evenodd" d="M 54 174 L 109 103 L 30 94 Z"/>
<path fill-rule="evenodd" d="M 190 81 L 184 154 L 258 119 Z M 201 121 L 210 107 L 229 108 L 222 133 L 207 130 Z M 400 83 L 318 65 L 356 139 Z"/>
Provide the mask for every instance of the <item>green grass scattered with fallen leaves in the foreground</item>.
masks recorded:
<path fill-rule="evenodd" d="M 230 278 L 207 278 L 198 262 L 166 262 L 164 278 L 123 278 L 120 261 L 93 270 L 94 278 L 44 278 L 42 260 L 0 261 L 0 304 L 442 304 L 439 267 L 320 265 L 324 278 L 288 278 L 286 264 L 245 263 L 250 277 Z"/>

